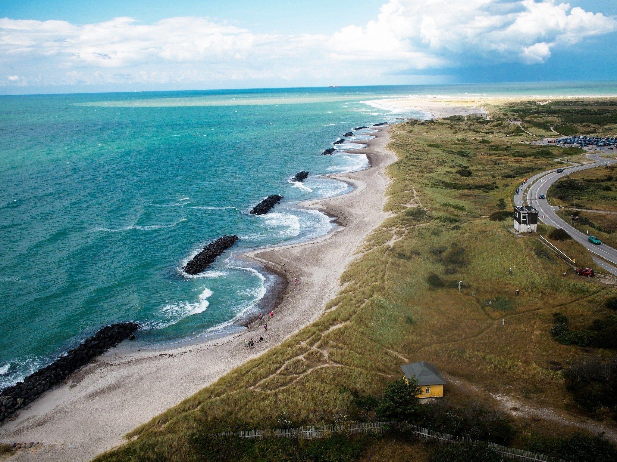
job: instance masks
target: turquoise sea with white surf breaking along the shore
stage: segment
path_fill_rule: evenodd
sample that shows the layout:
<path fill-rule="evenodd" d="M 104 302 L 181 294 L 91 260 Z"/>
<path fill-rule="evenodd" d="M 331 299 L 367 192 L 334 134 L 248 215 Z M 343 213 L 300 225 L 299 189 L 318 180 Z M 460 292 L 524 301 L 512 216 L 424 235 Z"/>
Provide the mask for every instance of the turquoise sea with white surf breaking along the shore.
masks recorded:
<path fill-rule="evenodd" d="M 293 208 L 344 193 L 318 174 L 366 166 L 320 153 L 358 125 L 420 117 L 367 103 L 406 95 L 615 95 L 615 83 L 344 87 L 0 97 L 0 388 L 112 322 L 160 344 L 242 329 L 273 277 L 229 252 L 180 267 L 223 234 L 234 252 L 328 232 Z M 289 179 L 311 172 L 303 184 Z M 284 203 L 249 209 L 266 195 Z"/>

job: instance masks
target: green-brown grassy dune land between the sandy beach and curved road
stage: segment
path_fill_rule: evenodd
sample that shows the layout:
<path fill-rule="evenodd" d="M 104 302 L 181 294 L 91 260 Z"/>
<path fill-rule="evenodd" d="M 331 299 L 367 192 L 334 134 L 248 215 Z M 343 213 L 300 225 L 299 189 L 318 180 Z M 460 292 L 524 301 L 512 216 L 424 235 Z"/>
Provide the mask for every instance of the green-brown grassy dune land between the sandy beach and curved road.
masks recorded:
<path fill-rule="evenodd" d="M 576 325 L 602 314 L 603 300 L 617 290 L 563 276 L 565 265 L 535 238 L 508 230 L 510 218 L 489 218 L 511 210 L 522 178 L 567 155 L 521 144 L 532 138 L 503 120 L 516 108 L 492 114 L 491 121 L 397 124 L 390 144 L 399 157 L 389 169 L 392 216 L 358 250 L 321 318 L 135 429 L 128 444 L 97 461 L 193 461 L 196 438 L 214 429 L 375 419 L 352 404 L 354 391 L 379 395 L 399 377 L 400 365 L 416 360 L 483 391 L 578 412 L 555 365 L 613 354 L 553 341 L 552 315 L 566 313 Z M 594 267 L 584 248 L 565 246 L 579 264 Z M 445 393 L 454 403 L 478 399 L 453 383 Z M 531 419 L 517 425 L 564 431 Z M 384 441 L 370 460 L 425 460 L 422 448 Z"/>

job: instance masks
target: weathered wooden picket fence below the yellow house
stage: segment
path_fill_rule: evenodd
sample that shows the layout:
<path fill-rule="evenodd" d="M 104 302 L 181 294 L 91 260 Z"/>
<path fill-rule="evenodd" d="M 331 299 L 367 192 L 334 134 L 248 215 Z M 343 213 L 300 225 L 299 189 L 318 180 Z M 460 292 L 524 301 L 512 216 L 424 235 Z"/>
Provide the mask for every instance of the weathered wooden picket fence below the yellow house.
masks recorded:
<path fill-rule="evenodd" d="M 309 425 L 299 428 L 276 428 L 276 429 L 257 429 L 234 432 L 221 432 L 217 436 L 239 436 L 242 438 L 272 438 L 284 437 L 292 439 L 315 439 L 328 438 L 334 434 L 354 435 L 360 433 L 386 433 L 392 430 L 400 432 L 411 432 L 414 437 L 419 439 L 433 439 L 452 443 L 470 442 L 486 444 L 503 458 L 510 460 L 522 460 L 532 462 L 566 462 L 561 459 L 550 457 L 536 452 L 524 451 L 522 449 L 505 447 L 499 444 L 453 436 L 448 433 L 436 432 L 428 428 L 402 422 L 368 422 L 352 423 L 341 425 Z"/>

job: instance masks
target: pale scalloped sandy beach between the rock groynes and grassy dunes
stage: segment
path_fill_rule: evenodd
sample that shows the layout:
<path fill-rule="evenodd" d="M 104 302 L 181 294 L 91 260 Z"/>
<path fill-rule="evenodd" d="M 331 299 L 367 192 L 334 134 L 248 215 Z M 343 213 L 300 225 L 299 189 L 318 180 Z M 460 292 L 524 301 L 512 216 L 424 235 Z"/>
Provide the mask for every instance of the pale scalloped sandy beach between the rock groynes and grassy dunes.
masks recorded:
<path fill-rule="evenodd" d="M 142 349 L 124 345 L 101 355 L 61 386 L 44 394 L 0 427 L 0 441 L 44 442 L 11 460 L 88 461 L 123 443 L 123 435 L 167 408 L 213 383 L 228 371 L 280 344 L 320 316 L 339 290 L 339 277 L 363 239 L 386 217 L 383 211 L 389 180 L 385 169 L 395 161 L 386 150 L 389 127 L 363 142 L 370 160 L 362 171 L 330 175 L 354 190 L 346 195 L 300 206 L 337 217 L 335 229 L 295 245 L 252 251 L 242 257 L 264 264 L 288 283 L 278 297 L 268 333 L 257 326 L 234 336 L 175 349 Z M 300 283 L 293 283 L 293 278 Z M 291 283 L 289 283 L 291 281 Z M 264 312 L 264 315 L 266 312 Z M 243 339 L 264 342 L 246 349 Z"/>

